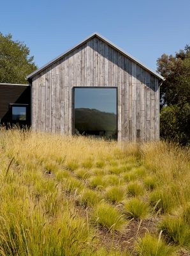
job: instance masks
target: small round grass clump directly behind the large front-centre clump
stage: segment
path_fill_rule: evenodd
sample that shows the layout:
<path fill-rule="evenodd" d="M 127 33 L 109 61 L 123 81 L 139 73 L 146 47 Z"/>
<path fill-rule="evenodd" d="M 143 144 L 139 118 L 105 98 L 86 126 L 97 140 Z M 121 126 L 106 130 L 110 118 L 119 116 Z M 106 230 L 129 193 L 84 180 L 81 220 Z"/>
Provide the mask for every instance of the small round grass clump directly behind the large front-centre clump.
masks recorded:
<path fill-rule="evenodd" d="M 114 203 L 119 203 L 124 199 L 125 190 L 122 186 L 113 186 L 106 189 L 106 198 Z"/>

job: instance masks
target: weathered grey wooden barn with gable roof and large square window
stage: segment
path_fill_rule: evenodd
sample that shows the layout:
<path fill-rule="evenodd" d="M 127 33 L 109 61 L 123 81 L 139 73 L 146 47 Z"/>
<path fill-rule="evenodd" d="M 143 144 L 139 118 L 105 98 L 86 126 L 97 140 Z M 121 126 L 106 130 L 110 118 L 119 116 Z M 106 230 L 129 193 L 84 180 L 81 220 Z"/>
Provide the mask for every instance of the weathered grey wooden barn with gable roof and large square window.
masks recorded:
<path fill-rule="evenodd" d="M 27 76 L 35 131 L 159 138 L 163 77 L 98 33 Z"/>

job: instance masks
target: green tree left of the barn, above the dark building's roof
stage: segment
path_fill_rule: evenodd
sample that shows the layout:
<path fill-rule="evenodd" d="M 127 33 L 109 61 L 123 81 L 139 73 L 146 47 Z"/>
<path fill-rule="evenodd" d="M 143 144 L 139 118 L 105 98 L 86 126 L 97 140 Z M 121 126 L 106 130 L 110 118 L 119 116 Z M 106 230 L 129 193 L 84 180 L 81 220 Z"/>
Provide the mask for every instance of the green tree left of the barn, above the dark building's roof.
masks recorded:
<path fill-rule="evenodd" d="M 0 83 L 26 84 L 26 76 L 37 68 L 29 54 L 26 44 L 0 33 Z"/>

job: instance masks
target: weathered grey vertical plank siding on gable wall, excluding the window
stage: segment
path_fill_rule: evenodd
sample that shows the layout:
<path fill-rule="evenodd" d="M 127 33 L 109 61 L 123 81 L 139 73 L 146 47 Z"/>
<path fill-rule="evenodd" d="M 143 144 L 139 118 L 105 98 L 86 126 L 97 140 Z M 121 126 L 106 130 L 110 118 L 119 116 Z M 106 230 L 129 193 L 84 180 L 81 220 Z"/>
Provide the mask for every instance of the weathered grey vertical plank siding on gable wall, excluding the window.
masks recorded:
<path fill-rule="evenodd" d="M 73 86 L 116 86 L 118 139 L 159 138 L 158 79 L 95 37 L 33 77 L 33 129 L 73 133 Z"/>

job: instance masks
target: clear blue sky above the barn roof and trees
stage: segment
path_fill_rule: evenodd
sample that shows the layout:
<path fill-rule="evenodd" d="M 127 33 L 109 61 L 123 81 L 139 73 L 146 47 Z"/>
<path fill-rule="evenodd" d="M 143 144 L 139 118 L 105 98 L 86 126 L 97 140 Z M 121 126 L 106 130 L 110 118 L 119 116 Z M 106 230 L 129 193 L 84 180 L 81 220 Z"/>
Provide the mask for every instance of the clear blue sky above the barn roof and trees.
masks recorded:
<path fill-rule="evenodd" d="M 0 31 L 31 49 L 38 67 L 95 31 L 156 70 L 190 44 L 190 0 L 1 1 Z"/>

